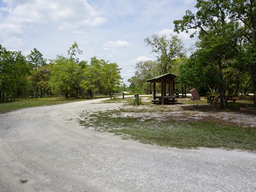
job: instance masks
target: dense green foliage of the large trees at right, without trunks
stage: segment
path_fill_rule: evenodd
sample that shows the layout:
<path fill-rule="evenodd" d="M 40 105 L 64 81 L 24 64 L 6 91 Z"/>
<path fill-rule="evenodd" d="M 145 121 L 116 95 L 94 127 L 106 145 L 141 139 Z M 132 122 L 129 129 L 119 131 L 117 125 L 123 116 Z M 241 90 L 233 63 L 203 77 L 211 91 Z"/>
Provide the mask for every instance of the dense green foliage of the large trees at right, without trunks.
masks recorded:
<path fill-rule="evenodd" d="M 193 29 L 194 33 L 190 37 L 198 35 L 197 50 L 191 55 L 190 61 L 181 67 L 182 73 L 185 74 L 180 80 L 185 82 L 187 79 L 189 84 L 203 82 L 210 91 L 218 90 L 221 95 L 227 92 L 237 94 L 238 89 L 246 92 L 251 81 L 247 78 L 248 72 L 251 73 L 252 82 L 256 84 L 255 55 L 252 56 L 253 54 L 247 49 L 248 42 L 252 44 L 255 42 L 252 34 L 256 33 L 248 33 L 248 31 L 256 31 L 256 25 L 253 25 L 256 24 L 256 20 L 250 17 L 255 13 L 255 9 L 251 9 L 255 7 L 255 1 L 198 0 L 195 7 L 196 13 L 188 10 L 181 20 L 174 21 L 174 31 L 177 33 L 179 31 L 188 33 Z M 252 62 L 241 60 L 243 54 L 246 58 L 252 58 Z M 246 65 L 249 67 L 245 67 Z M 201 76 L 197 76 L 198 69 L 202 71 Z M 186 71 L 194 74 L 191 75 Z M 240 77 L 244 75 L 246 78 L 241 79 Z M 245 87 L 241 87 L 242 83 Z M 220 107 L 224 107 L 222 101 Z"/>

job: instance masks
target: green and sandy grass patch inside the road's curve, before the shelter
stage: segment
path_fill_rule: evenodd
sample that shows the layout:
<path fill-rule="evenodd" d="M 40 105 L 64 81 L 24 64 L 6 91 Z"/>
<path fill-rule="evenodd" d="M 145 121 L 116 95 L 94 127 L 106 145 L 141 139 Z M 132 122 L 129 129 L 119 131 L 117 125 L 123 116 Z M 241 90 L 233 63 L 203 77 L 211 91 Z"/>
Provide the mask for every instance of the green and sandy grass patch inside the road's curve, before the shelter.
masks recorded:
<path fill-rule="evenodd" d="M 184 103 L 186 102 L 184 101 Z M 186 119 L 189 116 L 189 110 L 220 110 L 218 106 L 207 104 L 205 101 L 193 102 L 192 107 L 183 107 L 180 119 Z M 230 107 L 229 111 L 249 104 L 247 102 L 245 104 L 237 103 L 234 108 Z M 256 150 L 256 127 L 243 127 L 241 124 L 232 123 L 230 118 L 225 120 L 213 116 L 194 120 L 187 118 L 185 121 L 179 121 L 169 115 L 172 111 L 171 106 L 147 105 L 150 107 L 121 108 L 100 113 L 98 111 L 97 113 L 86 113 L 81 117 L 84 117 L 83 123 L 87 128 L 93 127 L 95 131 L 108 131 L 121 135 L 122 139 L 133 139 L 152 145 L 177 148 L 209 147 Z M 140 116 L 145 113 L 154 113 L 154 111 L 158 111 L 160 116 L 165 115 L 169 118 L 159 120 L 154 115 L 146 116 L 146 118 Z"/>

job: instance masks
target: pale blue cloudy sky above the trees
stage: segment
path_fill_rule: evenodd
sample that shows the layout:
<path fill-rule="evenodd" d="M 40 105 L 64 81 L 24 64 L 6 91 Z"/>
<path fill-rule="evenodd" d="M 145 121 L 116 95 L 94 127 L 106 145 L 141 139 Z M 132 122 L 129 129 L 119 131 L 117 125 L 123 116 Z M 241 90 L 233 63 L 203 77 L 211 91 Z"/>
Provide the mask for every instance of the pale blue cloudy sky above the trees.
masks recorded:
<path fill-rule="evenodd" d="M 77 42 L 80 59 L 97 56 L 122 68 L 124 83 L 139 61 L 155 60 L 143 39 L 170 35 L 173 20 L 195 10 L 196 0 L 0 0 L 0 44 L 24 55 L 67 55 Z M 180 34 L 187 47 L 194 43 Z"/>

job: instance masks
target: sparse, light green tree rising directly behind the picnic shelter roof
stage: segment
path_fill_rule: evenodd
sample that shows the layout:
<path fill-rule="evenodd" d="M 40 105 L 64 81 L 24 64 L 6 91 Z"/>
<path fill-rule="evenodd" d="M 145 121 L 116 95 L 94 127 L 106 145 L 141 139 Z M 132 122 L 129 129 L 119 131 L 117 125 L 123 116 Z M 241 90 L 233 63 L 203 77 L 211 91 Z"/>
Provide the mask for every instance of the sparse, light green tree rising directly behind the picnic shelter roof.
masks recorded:
<path fill-rule="evenodd" d="M 178 35 L 170 35 L 170 39 L 166 35 L 159 36 L 154 34 L 144 39 L 144 42 L 151 46 L 152 53 L 157 53 L 157 65 L 160 74 L 170 73 L 173 61 L 178 56 L 185 56 L 185 49 Z"/>

